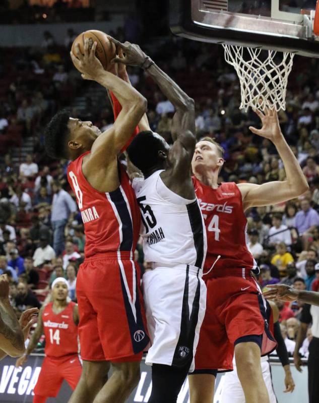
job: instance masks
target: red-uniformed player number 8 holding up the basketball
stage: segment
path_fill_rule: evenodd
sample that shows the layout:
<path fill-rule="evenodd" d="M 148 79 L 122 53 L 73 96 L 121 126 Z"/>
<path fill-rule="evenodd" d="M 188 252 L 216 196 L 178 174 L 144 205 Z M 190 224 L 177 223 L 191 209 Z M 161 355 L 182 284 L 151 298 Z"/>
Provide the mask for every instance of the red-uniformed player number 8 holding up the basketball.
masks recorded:
<path fill-rule="evenodd" d="M 82 77 L 95 80 L 118 99 L 114 125 L 101 133 L 91 122 L 65 112 L 47 127 L 46 151 L 71 159 L 68 180 L 76 195 L 86 235 L 85 261 L 77 276 L 79 335 L 83 372 L 70 402 L 124 402 L 140 379 L 140 361 L 149 342 L 133 253 L 140 212 L 117 154 L 143 117 L 146 99 L 119 77 L 103 70 L 96 42 L 72 60 Z M 112 365 L 112 376 L 107 374 Z"/>

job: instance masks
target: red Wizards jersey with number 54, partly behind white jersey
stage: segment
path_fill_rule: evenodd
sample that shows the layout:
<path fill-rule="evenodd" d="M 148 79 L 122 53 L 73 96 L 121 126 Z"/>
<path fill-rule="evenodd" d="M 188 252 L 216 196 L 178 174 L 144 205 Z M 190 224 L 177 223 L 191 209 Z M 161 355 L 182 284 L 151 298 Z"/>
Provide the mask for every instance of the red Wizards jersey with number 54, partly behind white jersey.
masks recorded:
<path fill-rule="evenodd" d="M 246 244 L 247 220 L 243 212 L 241 193 L 233 182 L 223 183 L 218 189 L 202 184 L 193 177 L 196 196 L 199 200 L 207 231 L 207 255 L 204 274 L 213 271 L 240 268 L 253 269 L 256 262 Z"/>

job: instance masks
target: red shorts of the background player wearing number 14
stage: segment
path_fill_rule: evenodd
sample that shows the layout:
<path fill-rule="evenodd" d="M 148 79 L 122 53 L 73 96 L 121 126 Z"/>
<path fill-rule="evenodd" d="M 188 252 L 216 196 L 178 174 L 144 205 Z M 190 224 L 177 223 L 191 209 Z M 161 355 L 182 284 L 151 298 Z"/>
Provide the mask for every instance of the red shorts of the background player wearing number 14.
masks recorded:
<path fill-rule="evenodd" d="M 79 382 L 81 373 L 82 367 L 77 355 L 58 359 L 45 357 L 33 392 L 40 396 L 56 397 L 63 379 L 74 390 Z"/>

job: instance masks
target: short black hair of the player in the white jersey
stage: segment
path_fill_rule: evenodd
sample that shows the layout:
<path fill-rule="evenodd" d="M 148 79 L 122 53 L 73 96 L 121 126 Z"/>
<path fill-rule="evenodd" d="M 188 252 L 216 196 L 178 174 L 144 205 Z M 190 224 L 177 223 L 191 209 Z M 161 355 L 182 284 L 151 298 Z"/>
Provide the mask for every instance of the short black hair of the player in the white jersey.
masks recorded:
<path fill-rule="evenodd" d="M 164 140 L 162 141 L 150 130 L 140 132 L 127 148 L 131 162 L 143 173 L 163 162 L 158 151 L 167 152 Z"/>

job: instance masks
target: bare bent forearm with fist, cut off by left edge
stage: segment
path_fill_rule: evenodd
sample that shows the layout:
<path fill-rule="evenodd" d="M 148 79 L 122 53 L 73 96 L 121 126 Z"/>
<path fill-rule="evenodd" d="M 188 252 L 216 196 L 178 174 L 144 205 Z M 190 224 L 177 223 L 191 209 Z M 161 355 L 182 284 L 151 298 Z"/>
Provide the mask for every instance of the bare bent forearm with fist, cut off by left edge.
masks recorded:
<path fill-rule="evenodd" d="M 7 274 L 0 275 L 0 349 L 0 359 L 20 357 L 25 352 L 22 328 L 9 300 Z"/>

